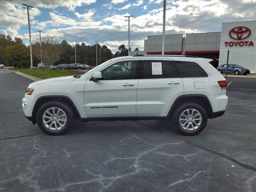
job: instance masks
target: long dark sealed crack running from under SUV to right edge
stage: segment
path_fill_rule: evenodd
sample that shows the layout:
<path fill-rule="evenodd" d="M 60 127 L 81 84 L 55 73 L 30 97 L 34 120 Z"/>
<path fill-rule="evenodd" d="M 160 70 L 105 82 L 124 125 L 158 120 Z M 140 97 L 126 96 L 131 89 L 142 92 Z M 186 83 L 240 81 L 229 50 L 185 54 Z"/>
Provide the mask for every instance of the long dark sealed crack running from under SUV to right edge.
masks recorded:
<path fill-rule="evenodd" d="M 146 126 L 146 127 L 148 127 L 148 128 L 151 128 L 151 129 L 155 129 L 155 128 L 152 128 L 152 127 L 150 127 L 150 126 L 148 126 L 148 125 L 146 125 L 146 124 L 144 124 L 144 123 L 142 123 L 142 122 L 138 122 L 138 121 L 133 121 L 133 122 L 136 122 L 136 123 L 138 123 L 138 124 L 141 124 L 141 125 L 143 125 L 143 126 Z M 159 130 L 159 129 L 158 129 L 158 130 Z M 159 131 L 160 131 L 160 132 L 163 132 L 163 133 L 165 133 L 165 134 L 168 134 L 168 135 L 170 135 L 170 136 L 172 136 L 172 137 L 174 137 L 174 138 L 176 138 L 176 139 L 178 139 L 178 140 L 180 140 L 180 141 L 182 141 L 182 142 L 184 142 L 184 143 L 186 143 L 186 144 L 189 144 L 189 145 L 194 146 L 194 147 L 196 147 L 196 148 L 200 148 L 200 149 L 205 150 L 205 151 L 207 151 L 207 152 L 210 152 L 210 153 L 212 153 L 212 154 L 216 154 L 216 155 L 218 155 L 218 156 L 224 157 L 225 159 L 230 160 L 230 161 L 233 162 L 234 164 L 237 164 L 237 165 L 239 165 L 239 166 L 241 166 L 241 167 L 243 167 L 243 168 L 250 169 L 250 170 L 253 170 L 253 171 L 256 172 L 256 168 L 253 167 L 253 166 L 250 166 L 250 165 L 248 165 L 248 164 L 241 163 L 241 162 L 239 162 L 238 160 L 235 160 L 234 158 L 231 158 L 231 157 L 229 157 L 229 156 L 226 156 L 226 155 L 224 155 L 224 154 L 222 154 L 222 153 L 219 153 L 219 152 L 216 152 L 216 151 L 214 151 L 214 150 L 211 150 L 211 149 L 208 149 L 208 148 L 199 146 L 199 145 L 197 145 L 197 144 L 194 144 L 194 143 L 192 143 L 192 142 L 190 142 L 190 141 L 188 141 L 188 140 L 182 139 L 182 138 L 180 138 L 180 137 L 178 137 L 178 136 L 176 136 L 176 135 L 174 135 L 174 134 L 171 134 L 171 133 L 169 133 L 169 132 L 166 132 L 166 131 L 164 131 L 164 130 L 159 130 Z"/>

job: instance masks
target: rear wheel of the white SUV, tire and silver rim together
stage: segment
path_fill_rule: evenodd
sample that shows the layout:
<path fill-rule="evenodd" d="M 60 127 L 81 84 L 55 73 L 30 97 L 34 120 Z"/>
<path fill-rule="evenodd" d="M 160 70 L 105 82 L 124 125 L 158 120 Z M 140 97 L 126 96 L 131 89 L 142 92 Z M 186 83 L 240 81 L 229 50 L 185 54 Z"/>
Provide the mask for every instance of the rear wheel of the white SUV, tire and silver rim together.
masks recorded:
<path fill-rule="evenodd" d="M 174 125 L 183 135 L 196 135 L 204 130 L 207 124 L 207 113 L 197 103 L 184 103 L 174 113 Z"/>

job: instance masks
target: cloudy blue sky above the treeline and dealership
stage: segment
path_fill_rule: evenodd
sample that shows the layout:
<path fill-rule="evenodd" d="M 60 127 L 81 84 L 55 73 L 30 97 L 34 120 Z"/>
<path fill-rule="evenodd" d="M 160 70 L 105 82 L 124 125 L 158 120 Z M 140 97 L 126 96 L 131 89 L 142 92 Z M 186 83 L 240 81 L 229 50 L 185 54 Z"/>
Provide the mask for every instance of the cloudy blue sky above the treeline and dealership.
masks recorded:
<path fill-rule="evenodd" d="M 32 2 L 32 1 L 31 1 Z M 145 1 L 146 2 L 146 1 Z M 156 2 L 156 0 L 152 1 Z M 119 2 L 120 3 L 120 2 Z M 56 4 L 56 1 L 53 2 Z M 150 4 L 150 2 L 148 2 Z M 131 8 L 139 6 L 141 10 L 130 18 L 130 39 L 131 47 L 144 49 L 144 39 L 148 35 L 162 34 L 162 6 L 161 4 L 143 4 L 143 1 L 129 1 L 121 7 L 128 6 L 130 14 Z M 128 15 L 128 10 L 116 10 L 100 14 L 101 10 L 108 10 L 120 7 L 118 3 L 108 2 L 102 4 L 101 8 L 93 5 L 84 12 L 76 10 L 68 12 L 63 9 L 62 14 L 55 10 L 50 11 L 50 19 L 39 20 L 40 8 L 30 9 L 32 24 L 32 38 L 38 36 L 36 29 L 44 28 L 42 35 L 55 34 L 68 42 L 87 42 L 94 44 L 95 37 L 100 40 L 100 44 L 106 44 L 113 52 L 120 44 L 128 44 L 128 21 L 124 16 Z M 148 5 L 148 6 L 147 6 Z M 152 6 L 154 5 L 154 6 Z M 54 7 L 55 5 L 49 5 Z M 96 4 L 95 4 L 96 6 Z M 146 7 L 145 7 L 146 6 Z M 64 7 L 64 6 L 63 6 Z M 255 20 L 256 1 L 167 1 L 166 2 L 166 34 L 186 34 L 196 32 L 217 32 L 221 30 L 222 22 Z M 95 9 L 94 9 L 95 8 Z M 14 6 L 12 2 L 6 1 L 2 6 L 1 1 L 1 34 L 9 34 L 12 37 L 20 37 L 25 42 L 28 41 L 28 34 L 21 35 L 19 28 L 27 24 L 26 9 Z M 124 10 L 127 12 L 124 14 Z M 239 10 L 239 11 L 238 11 Z M 59 11 L 59 10 L 58 10 Z M 68 14 L 65 14 L 66 12 Z M 61 12 L 61 11 L 60 11 Z"/>

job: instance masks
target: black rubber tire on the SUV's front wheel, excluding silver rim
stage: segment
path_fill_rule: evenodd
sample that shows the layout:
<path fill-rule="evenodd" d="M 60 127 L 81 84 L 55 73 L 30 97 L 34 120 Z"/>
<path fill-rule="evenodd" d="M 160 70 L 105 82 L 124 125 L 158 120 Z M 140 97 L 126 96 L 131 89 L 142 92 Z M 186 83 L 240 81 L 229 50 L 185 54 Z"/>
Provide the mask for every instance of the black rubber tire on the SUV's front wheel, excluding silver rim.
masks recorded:
<path fill-rule="evenodd" d="M 58 107 L 66 113 L 66 116 L 67 116 L 66 124 L 60 130 L 50 130 L 43 123 L 42 116 L 43 116 L 44 112 L 48 108 L 51 108 L 51 107 Z M 44 103 L 38 109 L 37 114 L 36 114 L 36 121 L 37 121 L 37 124 L 38 124 L 39 128 L 43 132 L 45 132 L 46 134 L 48 134 L 48 135 L 62 135 L 70 128 L 70 125 L 72 125 L 72 122 L 74 121 L 74 112 L 73 112 L 72 108 L 64 102 L 50 101 L 50 102 Z"/>

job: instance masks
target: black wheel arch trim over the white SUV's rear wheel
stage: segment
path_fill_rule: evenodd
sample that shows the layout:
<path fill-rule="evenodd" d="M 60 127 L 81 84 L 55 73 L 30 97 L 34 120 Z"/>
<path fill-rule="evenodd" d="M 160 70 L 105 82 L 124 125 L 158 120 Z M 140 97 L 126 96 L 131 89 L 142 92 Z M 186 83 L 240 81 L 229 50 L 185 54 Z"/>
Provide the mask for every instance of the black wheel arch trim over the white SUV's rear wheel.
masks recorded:
<path fill-rule="evenodd" d="M 176 108 L 184 102 L 196 102 L 200 104 L 206 110 L 208 118 L 213 118 L 213 110 L 210 100 L 203 94 L 187 94 L 179 96 L 172 104 L 167 117 L 170 118 L 172 116 L 172 112 L 174 112 Z"/>

